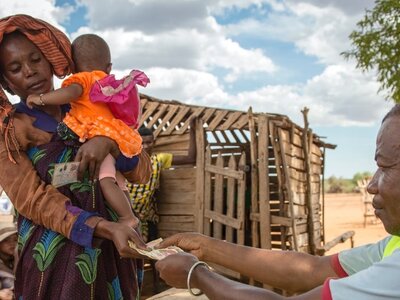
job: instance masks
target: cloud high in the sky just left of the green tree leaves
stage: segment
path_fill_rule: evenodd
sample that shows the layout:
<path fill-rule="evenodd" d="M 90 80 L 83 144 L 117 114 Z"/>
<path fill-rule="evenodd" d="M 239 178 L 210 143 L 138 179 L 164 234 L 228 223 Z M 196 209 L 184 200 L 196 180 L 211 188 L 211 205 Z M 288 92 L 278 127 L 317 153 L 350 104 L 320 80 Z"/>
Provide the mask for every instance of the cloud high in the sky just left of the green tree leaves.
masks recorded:
<path fill-rule="evenodd" d="M 227 25 L 225 30 L 232 37 L 242 35 L 266 43 L 271 40 L 292 43 L 323 64 L 335 64 L 343 61 L 340 53 L 349 49 L 348 36 L 360 16 L 349 16 L 335 7 L 295 2 L 288 3 L 284 12 L 271 11 L 263 19 L 243 19 Z"/>

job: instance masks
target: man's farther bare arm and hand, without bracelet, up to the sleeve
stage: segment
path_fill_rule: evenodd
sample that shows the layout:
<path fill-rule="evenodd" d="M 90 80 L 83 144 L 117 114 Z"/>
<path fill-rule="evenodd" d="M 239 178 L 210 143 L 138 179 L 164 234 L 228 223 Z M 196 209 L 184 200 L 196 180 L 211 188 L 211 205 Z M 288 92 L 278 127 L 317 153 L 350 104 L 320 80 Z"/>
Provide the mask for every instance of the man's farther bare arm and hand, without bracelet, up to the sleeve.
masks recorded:
<path fill-rule="evenodd" d="M 337 277 L 329 256 L 240 246 L 198 233 L 176 234 L 166 238 L 159 247 L 171 245 L 191 252 L 200 260 L 291 292 L 309 291 L 322 285 L 326 278 Z"/>

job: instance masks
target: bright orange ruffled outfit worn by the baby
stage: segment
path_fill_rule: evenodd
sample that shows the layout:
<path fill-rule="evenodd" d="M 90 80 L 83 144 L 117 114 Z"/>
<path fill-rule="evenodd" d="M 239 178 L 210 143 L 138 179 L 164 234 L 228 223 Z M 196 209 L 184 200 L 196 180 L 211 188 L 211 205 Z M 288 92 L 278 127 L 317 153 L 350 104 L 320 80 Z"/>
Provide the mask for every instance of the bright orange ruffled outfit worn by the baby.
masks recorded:
<path fill-rule="evenodd" d="M 89 93 L 96 80 L 107 76 L 103 71 L 80 72 L 64 80 L 62 87 L 73 83 L 83 88 L 82 95 L 71 101 L 71 110 L 64 123 L 85 142 L 94 136 L 112 138 L 126 157 L 138 155 L 142 150 L 142 138 L 137 130 L 131 129 L 123 121 L 116 119 L 106 103 L 90 101 Z"/>

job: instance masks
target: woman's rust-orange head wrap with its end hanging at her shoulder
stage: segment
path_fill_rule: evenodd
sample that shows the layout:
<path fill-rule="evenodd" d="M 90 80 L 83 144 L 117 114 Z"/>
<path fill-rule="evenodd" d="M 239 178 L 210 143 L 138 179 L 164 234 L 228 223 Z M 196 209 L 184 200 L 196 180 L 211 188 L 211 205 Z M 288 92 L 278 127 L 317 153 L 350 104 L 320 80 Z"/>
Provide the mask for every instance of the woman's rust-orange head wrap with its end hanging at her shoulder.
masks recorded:
<path fill-rule="evenodd" d="M 53 67 L 57 77 L 64 77 L 73 71 L 71 43 L 59 29 L 40 19 L 28 15 L 13 15 L 0 19 L 0 43 L 4 34 L 19 31 L 42 51 Z M 1 74 L 0 74 L 1 76 Z M 13 130 L 13 107 L 3 89 L 0 88 L 0 128 L 5 139 L 8 156 L 10 144 L 17 145 Z M 18 147 L 16 147 L 18 149 Z"/>

